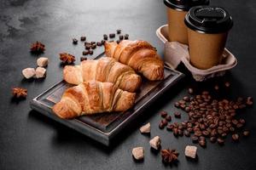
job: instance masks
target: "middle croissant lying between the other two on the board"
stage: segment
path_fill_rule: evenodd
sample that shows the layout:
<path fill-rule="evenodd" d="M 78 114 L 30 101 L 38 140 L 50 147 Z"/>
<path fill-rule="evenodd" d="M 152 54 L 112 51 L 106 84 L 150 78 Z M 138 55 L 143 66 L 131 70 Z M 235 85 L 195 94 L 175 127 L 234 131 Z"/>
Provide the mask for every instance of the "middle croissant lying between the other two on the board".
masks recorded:
<path fill-rule="evenodd" d="M 142 78 L 130 66 L 108 57 L 84 60 L 81 65 L 67 65 L 63 70 L 63 79 L 75 85 L 91 80 L 113 82 L 114 87 L 128 92 L 135 92 L 142 83 Z"/>

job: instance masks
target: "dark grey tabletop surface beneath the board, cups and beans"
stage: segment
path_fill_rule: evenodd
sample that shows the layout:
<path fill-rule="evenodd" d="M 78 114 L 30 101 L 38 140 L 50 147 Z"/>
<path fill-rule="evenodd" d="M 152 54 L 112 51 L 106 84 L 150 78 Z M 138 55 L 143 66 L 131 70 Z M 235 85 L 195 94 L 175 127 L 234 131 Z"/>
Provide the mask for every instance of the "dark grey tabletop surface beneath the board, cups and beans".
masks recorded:
<path fill-rule="evenodd" d="M 160 153 L 150 150 L 148 140 L 154 135 L 162 139 L 162 148 L 180 152 L 173 169 L 255 169 L 256 168 L 256 112 L 255 106 L 241 111 L 251 136 L 234 143 L 230 135 L 224 146 L 207 143 L 198 146 L 198 161 L 187 160 L 184 147 L 192 144 L 188 138 L 174 138 L 172 133 L 160 130 L 158 112 L 177 111 L 173 104 L 187 94 L 189 87 L 208 89 L 216 83 L 230 82 L 230 89 L 220 95 L 230 99 L 238 96 L 256 97 L 256 1 L 212 0 L 214 5 L 230 11 L 235 25 L 230 31 L 227 48 L 236 55 L 238 65 L 225 77 L 206 83 L 192 80 L 180 65 L 179 71 L 187 77 L 150 105 L 143 116 L 125 128 L 111 147 L 103 146 L 48 117 L 32 111 L 29 101 L 61 81 L 62 67 L 58 54 L 68 52 L 79 57 L 83 46 L 73 46 L 72 38 L 87 36 L 98 41 L 102 34 L 120 28 L 131 39 L 151 42 L 163 55 L 163 46 L 155 35 L 158 27 L 166 24 L 166 7 L 161 0 L 139 1 L 35 1 L 2 0 L 0 3 L 0 169 L 169 169 L 161 162 Z M 26 81 L 21 70 L 35 67 L 38 56 L 29 53 L 32 42 L 46 45 L 42 56 L 49 57 L 47 77 Z M 103 48 L 97 49 L 97 53 Z M 12 100 L 11 88 L 27 88 L 25 100 Z M 182 113 L 185 118 L 186 114 Z M 138 128 L 150 122 L 151 136 L 142 135 Z M 145 148 L 142 162 L 132 159 L 131 149 Z"/>

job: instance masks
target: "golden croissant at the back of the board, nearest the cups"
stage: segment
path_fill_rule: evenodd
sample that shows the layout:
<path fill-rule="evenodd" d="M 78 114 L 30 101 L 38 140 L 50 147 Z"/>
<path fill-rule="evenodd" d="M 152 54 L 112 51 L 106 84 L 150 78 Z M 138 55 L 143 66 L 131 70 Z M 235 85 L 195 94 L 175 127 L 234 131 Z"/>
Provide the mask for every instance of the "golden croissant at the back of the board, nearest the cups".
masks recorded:
<path fill-rule="evenodd" d="M 105 42 L 105 54 L 135 71 L 143 74 L 148 80 L 162 80 L 164 78 L 164 63 L 156 53 L 154 47 L 142 40 L 119 42 Z"/>

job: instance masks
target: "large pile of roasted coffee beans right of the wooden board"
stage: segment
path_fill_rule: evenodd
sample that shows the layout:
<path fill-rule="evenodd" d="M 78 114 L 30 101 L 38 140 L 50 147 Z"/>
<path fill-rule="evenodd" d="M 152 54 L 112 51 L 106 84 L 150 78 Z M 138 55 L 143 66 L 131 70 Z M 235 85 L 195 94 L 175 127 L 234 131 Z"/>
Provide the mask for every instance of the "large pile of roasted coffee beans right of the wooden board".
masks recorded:
<path fill-rule="evenodd" d="M 230 83 L 224 84 L 230 87 Z M 214 87 L 215 88 L 215 87 Z M 215 88 L 216 89 L 216 88 Z M 173 135 L 191 137 L 193 143 L 198 143 L 202 147 L 207 146 L 206 138 L 211 143 L 224 144 L 224 140 L 230 133 L 233 141 L 238 141 L 241 136 L 248 136 L 249 131 L 242 129 L 246 121 L 236 118 L 237 111 L 253 105 L 253 98 L 237 98 L 235 101 L 228 99 L 213 99 L 208 91 L 201 94 L 194 94 L 194 89 L 189 88 L 188 96 L 177 101 L 175 107 L 187 112 L 189 119 L 184 122 L 174 122 L 168 124 L 166 111 L 160 115 L 164 117 L 160 122 L 160 128 L 166 127 L 167 131 L 172 131 Z M 165 113 L 165 114 L 164 114 Z M 180 118 L 181 114 L 175 112 L 174 116 Z"/>

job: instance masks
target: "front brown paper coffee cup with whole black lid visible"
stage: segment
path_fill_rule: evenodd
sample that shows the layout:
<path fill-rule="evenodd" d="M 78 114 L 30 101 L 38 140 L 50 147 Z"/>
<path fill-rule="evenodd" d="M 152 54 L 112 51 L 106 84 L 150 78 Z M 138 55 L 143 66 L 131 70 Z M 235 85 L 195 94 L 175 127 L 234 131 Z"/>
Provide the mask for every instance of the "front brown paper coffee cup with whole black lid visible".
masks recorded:
<path fill-rule="evenodd" d="M 209 69 L 222 60 L 233 20 L 221 7 L 190 8 L 184 20 L 188 29 L 189 60 L 198 69 Z"/>

